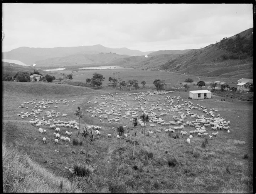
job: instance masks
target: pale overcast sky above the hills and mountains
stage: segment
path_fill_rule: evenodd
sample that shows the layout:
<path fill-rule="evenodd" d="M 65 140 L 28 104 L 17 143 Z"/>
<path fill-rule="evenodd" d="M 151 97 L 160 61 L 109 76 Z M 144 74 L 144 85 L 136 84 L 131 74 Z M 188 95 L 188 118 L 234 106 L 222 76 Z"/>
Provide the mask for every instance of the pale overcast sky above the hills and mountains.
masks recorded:
<path fill-rule="evenodd" d="M 253 27 L 252 4 L 3 3 L 2 51 L 101 44 L 196 49 Z"/>

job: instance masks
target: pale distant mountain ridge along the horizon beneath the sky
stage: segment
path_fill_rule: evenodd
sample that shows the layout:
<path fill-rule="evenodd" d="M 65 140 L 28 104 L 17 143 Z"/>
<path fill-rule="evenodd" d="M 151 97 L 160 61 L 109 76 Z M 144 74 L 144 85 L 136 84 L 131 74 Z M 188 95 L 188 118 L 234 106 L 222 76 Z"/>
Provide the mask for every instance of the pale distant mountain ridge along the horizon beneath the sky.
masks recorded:
<path fill-rule="evenodd" d="M 56 48 L 29 48 L 19 47 L 8 52 L 2 52 L 2 58 L 8 60 L 19 60 L 27 65 L 33 65 L 35 61 L 55 57 L 64 57 L 84 52 L 84 54 L 116 53 L 119 55 L 140 56 L 148 55 L 154 51 L 142 52 L 128 48 L 108 48 L 102 45 L 56 47 Z"/>

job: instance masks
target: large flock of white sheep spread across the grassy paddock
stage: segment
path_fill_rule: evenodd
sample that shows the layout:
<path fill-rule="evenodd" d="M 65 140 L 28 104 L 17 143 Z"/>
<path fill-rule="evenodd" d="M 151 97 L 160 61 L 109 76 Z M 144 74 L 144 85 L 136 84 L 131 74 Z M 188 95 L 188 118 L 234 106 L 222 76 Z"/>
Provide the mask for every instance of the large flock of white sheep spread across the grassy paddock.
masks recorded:
<path fill-rule="evenodd" d="M 112 126 L 111 131 L 115 133 L 115 127 L 117 125 L 126 124 L 123 127 L 131 126 L 131 121 L 135 118 L 138 118 L 138 124 L 144 127 L 140 115 L 145 113 L 149 116 L 149 123 L 146 123 L 145 126 L 148 126 L 147 129 L 149 129 L 147 131 L 148 136 L 152 136 L 154 133 L 162 133 L 163 131 L 166 133 L 180 133 L 182 136 L 189 136 L 186 140 L 187 143 L 190 143 L 191 139 L 195 136 L 209 136 L 209 139 L 213 139 L 219 135 L 217 130 L 225 130 L 227 133 L 230 133 L 230 121 L 226 121 L 225 118 L 220 117 L 218 110 L 214 108 L 208 110 L 200 104 L 195 106 L 194 103 L 184 101 L 180 96 L 169 96 L 168 94 L 172 92 L 174 91 L 148 91 L 141 93 L 122 93 L 121 95 L 118 95 L 118 93 L 115 95 L 101 95 L 100 98 L 94 98 L 94 100 L 97 101 L 93 101 L 93 103 L 91 103 L 91 101 L 87 102 L 87 115 L 85 118 L 90 116 L 91 119 L 93 119 L 93 123 L 103 124 L 106 122 L 104 126 L 108 127 L 110 125 L 109 128 Z M 155 95 L 162 96 L 155 100 L 156 97 L 152 97 Z M 72 100 L 71 102 L 73 103 L 74 101 L 75 100 Z M 19 106 L 19 108 L 28 109 L 29 104 L 34 104 L 31 112 L 21 112 L 17 114 L 17 116 L 21 116 L 22 119 L 32 117 L 29 123 L 35 126 L 41 134 L 48 133 L 48 129 L 54 131 L 54 133 L 52 133 L 54 137 L 52 139 L 53 143 L 58 144 L 59 140 L 70 142 L 70 137 L 74 130 L 79 129 L 79 124 L 76 120 L 72 119 L 69 121 L 58 119 L 61 117 L 60 112 L 57 111 L 58 107 L 61 105 L 60 103 L 67 106 L 68 109 L 72 108 L 69 107 L 69 101 L 66 99 L 42 99 L 37 103 L 33 99 Z M 91 104 L 94 104 L 94 106 L 91 106 Z M 67 116 L 67 114 L 62 114 L 63 119 L 67 118 Z M 75 118 L 75 115 L 69 115 L 69 117 Z M 93 132 L 98 136 L 105 134 L 105 130 L 99 126 L 87 125 L 87 127 L 91 130 L 95 130 Z M 209 130 L 215 132 L 209 132 Z M 64 133 L 64 131 L 66 132 Z M 63 136 L 61 136 L 61 134 Z M 112 134 L 106 133 L 106 136 L 111 138 Z M 124 134 L 124 136 L 127 137 L 127 134 Z M 120 138 L 119 135 L 116 135 L 116 137 Z M 46 138 L 43 137 L 42 141 L 45 143 Z"/>

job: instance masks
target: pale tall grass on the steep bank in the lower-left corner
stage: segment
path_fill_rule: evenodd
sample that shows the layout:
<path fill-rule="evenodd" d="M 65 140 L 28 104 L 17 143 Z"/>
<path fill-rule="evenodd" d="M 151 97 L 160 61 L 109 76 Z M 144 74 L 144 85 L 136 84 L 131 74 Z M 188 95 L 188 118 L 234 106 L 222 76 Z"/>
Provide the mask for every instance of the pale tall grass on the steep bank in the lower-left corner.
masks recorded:
<path fill-rule="evenodd" d="M 77 193 L 76 182 L 56 176 L 33 162 L 16 147 L 2 144 L 3 192 Z"/>

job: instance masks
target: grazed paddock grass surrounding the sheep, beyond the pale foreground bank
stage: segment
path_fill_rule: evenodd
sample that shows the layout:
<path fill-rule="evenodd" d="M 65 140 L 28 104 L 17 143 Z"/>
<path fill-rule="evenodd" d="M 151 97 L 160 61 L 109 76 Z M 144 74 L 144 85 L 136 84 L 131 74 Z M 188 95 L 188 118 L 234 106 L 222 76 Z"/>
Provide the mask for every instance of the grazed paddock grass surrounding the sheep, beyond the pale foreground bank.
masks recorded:
<path fill-rule="evenodd" d="M 106 101 L 101 99 L 101 94 L 115 95 L 116 97 L 110 98 L 106 102 L 108 105 L 110 103 L 115 105 L 116 113 L 120 111 L 122 115 L 125 113 L 125 108 L 129 107 L 126 106 L 119 110 L 118 108 L 121 108 L 121 106 L 117 104 L 125 102 L 125 104 L 130 104 L 130 108 L 131 106 L 136 108 L 139 105 L 138 103 L 143 104 L 144 100 L 135 100 L 136 95 L 124 96 L 128 93 L 126 91 L 93 90 L 92 93 L 89 89 L 84 90 L 77 86 L 63 85 L 65 90 L 60 90 L 57 89 L 60 85 L 48 84 L 39 88 L 41 86 L 39 84 L 34 88 L 36 92 L 31 94 L 29 90 L 33 89 L 32 85 L 29 84 L 4 83 L 3 86 L 3 143 L 16 145 L 15 149 L 26 153 L 31 161 L 38 163 L 40 167 L 47 169 L 55 176 L 65 177 L 70 182 L 76 182 L 77 188 L 82 192 L 252 192 L 253 103 L 250 101 L 227 99 L 221 102 L 221 97 L 218 96 L 213 96 L 212 99 L 190 100 L 195 105 L 199 103 L 202 106 L 207 106 L 207 109 L 219 109 L 218 113 L 221 117 L 226 118 L 227 121 L 230 120 L 231 123 L 231 133 L 219 131 L 219 135 L 212 140 L 208 139 L 207 146 L 202 148 L 202 141 L 205 141 L 203 138 L 194 136 L 191 139 L 191 144 L 187 144 L 185 143 L 186 138 L 173 139 L 169 137 L 164 130 L 170 128 L 170 126 L 160 126 L 162 132 L 153 133 L 151 137 L 146 136 L 144 143 L 144 135 L 139 133 L 141 127 L 132 128 L 130 117 L 128 119 L 121 119 L 120 117 L 118 123 L 112 122 L 110 124 L 107 119 L 102 119 L 104 123 L 100 123 L 98 118 L 100 114 L 91 118 L 91 113 L 86 111 L 89 107 L 94 109 L 97 106 L 103 108 L 103 112 L 108 109 L 103 104 L 102 106 L 99 105 Z M 49 86 L 51 91 L 45 93 L 45 86 Z M 27 89 L 28 87 L 31 88 Z M 69 90 L 73 90 L 72 88 L 81 90 L 77 90 L 77 95 L 75 95 L 69 93 Z M 58 93 L 55 93 L 55 91 L 58 91 Z M 188 93 L 182 90 L 168 95 L 180 96 L 184 101 L 189 101 Z M 150 104 L 155 104 L 157 101 L 164 103 L 166 96 L 145 96 L 144 98 L 150 101 L 149 104 L 143 104 L 143 106 L 147 105 L 148 109 Z M 68 129 L 68 131 L 73 132 L 71 142 L 59 141 L 59 144 L 54 144 L 54 129 L 47 128 L 48 133 L 40 134 L 37 128 L 28 123 L 31 118 L 21 119 L 20 116 L 17 116 L 21 111 L 31 111 L 34 108 L 34 105 L 30 104 L 27 104 L 29 109 L 17 108 L 21 103 L 31 99 L 37 99 L 37 102 L 41 99 L 67 99 L 69 101 L 69 107 L 62 103 L 58 104 L 58 108 L 53 108 L 53 105 L 51 105 L 51 108 L 45 109 L 39 114 L 39 118 L 45 114 L 46 110 L 55 110 L 68 115 L 67 118 L 59 118 L 60 120 L 77 120 L 74 111 L 77 106 L 81 106 L 84 110 L 84 116 L 80 120 L 80 125 L 93 124 L 102 127 L 100 138 L 96 139 L 93 145 L 88 145 L 89 159 L 85 159 L 86 146 L 72 145 L 72 141 L 77 134 L 75 129 Z M 76 101 L 71 103 L 71 100 Z M 88 101 L 91 101 L 91 103 L 87 104 Z M 98 101 L 98 104 L 94 104 L 94 101 Z M 158 107 L 166 106 L 162 103 L 158 103 Z M 158 110 L 153 111 L 158 113 Z M 182 111 L 184 112 L 184 109 Z M 203 114 L 198 110 L 193 110 L 193 112 L 199 115 Z M 140 115 L 142 112 L 137 111 L 137 113 Z M 162 118 L 167 122 L 172 120 L 172 116 L 175 114 L 177 113 L 170 112 Z M 115 118 L 115 116 L 108 115 L 109 118 Z M 184 122 L 191 120 L 190 117 L 187 117 Z M 128 125 L 133 129 L 126 131 L 127 138 L 122 137 L 120 149 L 118 149 L 119 139 L 116 138 L 116 131 L 111 129 L 112 126 L 119 125 Z M 46 129 L 46 126 L 42 126 L 42 128 Z M 191 129 L 185 126 L 183 131 L 189 132 Z M 148 123 L 146 125 L 147 130 L 149 130 Z M 155 130 L 155 128 L 152 129 L 152 131 Z M 61 128 L 61 136 L 65 136 L 65 131 L 65 128 Z M 135 131 L 137 133 L 135 156 L 133 157 L 133 135 Z M 112 138 L 108 138 L 108 133 L 112 134 Z M 211 133 L 211 129 L 207 128 L 207 133 Z M 177 134 L 179 134 L 178 131 L 173 136 Z M 43 136 L 47 139 L 45 144 L 41 141 Z M 244 153 L 248 153 L 247 159 L 243 159 Z M 5 165 L 6 163 L 10 164 L 10 161 L 10 159 L 6 160 Z M 94 164 L 94 167 L 86 166 L 84 162 L 87 162 L 86 165 Z M 169 166 L 169 162 L 171 166 Z M 74 176 L 68 169 L 73 169 L 75 164 L 79 164 L 81 167 L 93 168 L 94 171 L 91 171 L 90 176 L 86 176 L 86 178 Z M 231 173 L 227 173 L 227 166 Z M 7 178 L 5 174 L 3 177 Z M 61 181 L 56 185 L 59 189 L 56 192 L 59 192 L 61 187 L 62 190 L 65 187 L 65 183 L 61 184 Z M 17 187 L 22 186 L 17 185 Z M 126 189 L 121 190 L 123 188 Z M 41 192 L 44 192 L 44 190 Z"/>

